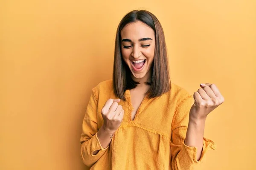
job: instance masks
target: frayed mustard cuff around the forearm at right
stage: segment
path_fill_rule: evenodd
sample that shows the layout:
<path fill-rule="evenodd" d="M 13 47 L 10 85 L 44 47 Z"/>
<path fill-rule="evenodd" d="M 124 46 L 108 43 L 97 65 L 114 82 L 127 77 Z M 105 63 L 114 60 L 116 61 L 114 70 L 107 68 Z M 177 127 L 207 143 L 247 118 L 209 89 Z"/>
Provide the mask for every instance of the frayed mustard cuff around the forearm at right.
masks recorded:
<path fill-rule="evenodd" d="M 216 144 L 212 140 L 204 138 L 201 158 L 198 161 L 196 159 L 197 147 L 190 147 L 190 146 L 187 146 L 185 143 L 183 144 L 183 147 L 184 147 L 185 150 L 188 151 L 188 154 L 191 156 L 191 158 L 193 158 L 193 161 L 195 163 L 201 163 L 201 161 L 205 157 L 205 153 L 206 153 L 207 150 L 209 150 L 209 149 L 216 150 L 217 149 Z"/>

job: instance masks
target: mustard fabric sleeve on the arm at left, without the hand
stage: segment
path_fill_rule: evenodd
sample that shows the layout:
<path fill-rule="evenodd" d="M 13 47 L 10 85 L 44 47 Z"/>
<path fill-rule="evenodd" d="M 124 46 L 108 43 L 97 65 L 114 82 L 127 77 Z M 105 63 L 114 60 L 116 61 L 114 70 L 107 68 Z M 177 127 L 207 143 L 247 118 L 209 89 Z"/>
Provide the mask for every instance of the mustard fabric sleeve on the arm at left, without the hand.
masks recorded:
<path fill-rule="evenodd" d="M 93 88 L 90 96 L 89 103 L 87 105 L 86 113 L 82 125 L 81 134 L 81 157 L 85 165 L 91 167 L 98 161 L 105 151 L 108 149 L 103 148 L 97 137 L 98 126 L 97 126 L 97 90 Z M 99 150 L 99 153 L 93 155 L 93 151 Z"/>

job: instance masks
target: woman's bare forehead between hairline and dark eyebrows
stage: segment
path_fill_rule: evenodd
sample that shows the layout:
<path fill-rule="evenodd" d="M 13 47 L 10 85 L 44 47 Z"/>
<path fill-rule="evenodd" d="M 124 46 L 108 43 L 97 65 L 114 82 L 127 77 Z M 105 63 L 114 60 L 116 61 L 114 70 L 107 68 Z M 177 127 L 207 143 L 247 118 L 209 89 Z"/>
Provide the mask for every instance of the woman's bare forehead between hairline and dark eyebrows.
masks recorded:
<path fill-rule="evenodd" d="M 122 39 L 128 38 L 131 40 L 139 40 L 141 38 L 149 37 L 154 40 L 154 30 L 141 21 L 128 23 L 122 28 L 120 34 Z"/>

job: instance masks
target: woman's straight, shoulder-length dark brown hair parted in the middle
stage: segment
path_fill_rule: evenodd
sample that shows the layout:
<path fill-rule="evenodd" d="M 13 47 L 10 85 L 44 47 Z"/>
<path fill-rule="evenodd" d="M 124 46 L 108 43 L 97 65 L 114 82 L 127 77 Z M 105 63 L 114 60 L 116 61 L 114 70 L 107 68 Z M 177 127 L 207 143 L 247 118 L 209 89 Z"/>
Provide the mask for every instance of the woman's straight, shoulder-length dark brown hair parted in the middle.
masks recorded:
<path fill-rule="evenodd" d="M 122 18 L 116 31 L 115 54 L 113 63 L 113 89 L 115 95 L 126 101 L 125 91 L 128 89 L 136 88 L 140 82 L 135 82 L 131 77 L 131 71 L 125 63 L 121 54 L 121 35 L 120 32 L 128 23 L 141 21 L 154 30 L 155 34 L 155 49 L 154 60 L 152 63 L 152 77 L 151 82 L 146 82 L 151 85 L 146 95 L 148 98 L 161 96 L 171 88 L 169 77 L 169 65 L 167 58 L 166 42 L 163 33 L 163 28 L 154 16 L 149 11 L 134 10 L 129 12 Z"/>

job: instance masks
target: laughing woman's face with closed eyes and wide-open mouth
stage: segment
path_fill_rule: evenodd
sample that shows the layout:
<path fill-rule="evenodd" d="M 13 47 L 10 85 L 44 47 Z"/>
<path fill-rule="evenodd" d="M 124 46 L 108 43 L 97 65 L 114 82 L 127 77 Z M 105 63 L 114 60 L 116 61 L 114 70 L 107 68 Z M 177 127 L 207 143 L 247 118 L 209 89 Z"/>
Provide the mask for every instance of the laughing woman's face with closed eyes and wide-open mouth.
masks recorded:
<path fill-rule="evenodd" d="M 132 77 L 142 79 L 150 71 L 154 59 L 154 30 L 137 21 L 127 24 L 120 34 L 122 57 Z"/>

